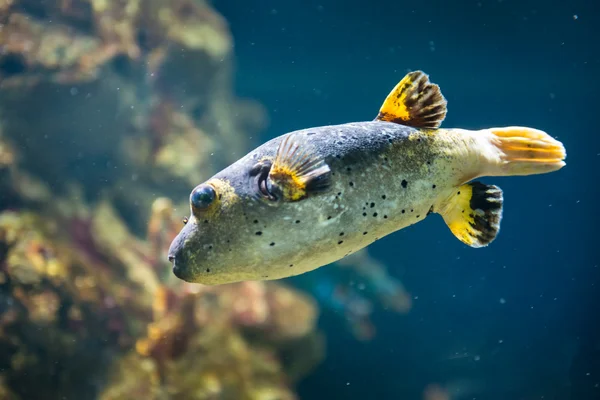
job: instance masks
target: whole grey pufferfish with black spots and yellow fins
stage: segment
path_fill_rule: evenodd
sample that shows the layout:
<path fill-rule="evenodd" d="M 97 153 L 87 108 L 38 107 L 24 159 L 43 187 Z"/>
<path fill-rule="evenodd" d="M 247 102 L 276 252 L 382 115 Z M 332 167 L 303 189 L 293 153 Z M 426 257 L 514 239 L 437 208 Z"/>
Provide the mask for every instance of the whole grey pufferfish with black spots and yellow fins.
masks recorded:
<path fill-rule="evenodd" d="M 562 143 L 537 129 L 440 129 L 446 99 L 407 74 L 373 121 L 279 136 L 196 186 L 173 240 L 173 273 L 217 285 L 302 274 L 395 231 L 442 216 L 471 247 L 490 244 L 502 190 L 481 176 L 565 165 Z"/>

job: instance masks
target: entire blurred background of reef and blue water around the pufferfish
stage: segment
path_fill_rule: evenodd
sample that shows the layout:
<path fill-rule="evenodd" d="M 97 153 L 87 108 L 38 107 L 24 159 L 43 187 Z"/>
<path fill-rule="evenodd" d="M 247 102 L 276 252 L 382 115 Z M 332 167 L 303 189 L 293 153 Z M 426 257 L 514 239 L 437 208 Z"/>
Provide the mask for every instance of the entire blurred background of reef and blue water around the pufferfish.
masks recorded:
<path fill-rule="evenodd" d="M 0 400 L 599 399 L 595 3 L 0 0 Z M 487 180 L 489 248 L 432 217 L 284 281 L 172 275 L 195 185 L 413 69 L 443 126 L 567 148 Z"/>

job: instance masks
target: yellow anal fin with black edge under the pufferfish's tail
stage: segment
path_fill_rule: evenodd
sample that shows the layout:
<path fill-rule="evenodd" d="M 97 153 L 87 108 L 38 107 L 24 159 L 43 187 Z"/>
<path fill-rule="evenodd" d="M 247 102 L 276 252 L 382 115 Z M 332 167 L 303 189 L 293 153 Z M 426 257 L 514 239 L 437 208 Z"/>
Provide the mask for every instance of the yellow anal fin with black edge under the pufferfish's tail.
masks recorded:
<path fill-rule="evenodd" d="M 454 236 L 471 247 L 485 247 L 498 235 L 502 220 L 502 190 L 481 182 L 456 189 L 439 213 Z"/>

